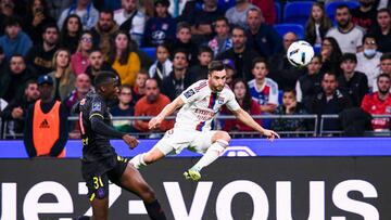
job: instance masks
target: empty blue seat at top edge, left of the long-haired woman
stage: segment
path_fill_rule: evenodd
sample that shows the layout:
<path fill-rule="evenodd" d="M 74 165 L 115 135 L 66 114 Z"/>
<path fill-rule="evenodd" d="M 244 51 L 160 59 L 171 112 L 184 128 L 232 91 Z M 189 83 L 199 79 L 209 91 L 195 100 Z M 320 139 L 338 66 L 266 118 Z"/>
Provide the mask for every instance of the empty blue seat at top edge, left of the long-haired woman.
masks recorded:
<path fill-rule="evenodd" d="M 311 14 L 313 1 L 288 2 L 283 9 L 283 23 L 305 25 Z"/>

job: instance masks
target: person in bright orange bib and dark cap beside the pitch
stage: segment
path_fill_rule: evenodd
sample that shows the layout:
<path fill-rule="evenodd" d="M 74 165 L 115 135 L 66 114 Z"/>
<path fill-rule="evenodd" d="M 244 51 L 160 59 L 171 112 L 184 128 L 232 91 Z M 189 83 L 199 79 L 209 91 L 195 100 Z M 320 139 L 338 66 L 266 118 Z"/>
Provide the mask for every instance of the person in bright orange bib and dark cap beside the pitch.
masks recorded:
<path fill-rule="evenodd" d="M 64 104 L 53 100 L 53 79 L 38 78 L 40 99 L 28 107 L 24 144 L 28 157 L 64 157 L 67 141 L 67 114 Z"/>

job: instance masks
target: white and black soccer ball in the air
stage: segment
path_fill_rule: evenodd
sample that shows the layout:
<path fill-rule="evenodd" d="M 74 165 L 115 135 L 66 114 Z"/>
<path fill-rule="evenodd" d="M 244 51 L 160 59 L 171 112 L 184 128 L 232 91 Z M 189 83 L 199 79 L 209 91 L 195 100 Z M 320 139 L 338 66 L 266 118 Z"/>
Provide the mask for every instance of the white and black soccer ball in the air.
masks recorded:
<path fill-rule="evenodd" d="M 304 40 L 293 42 L 287 51 L 287 59 L 289 63 L 298 68 L 308 65 L 313 57 L 314 49 Z"/>

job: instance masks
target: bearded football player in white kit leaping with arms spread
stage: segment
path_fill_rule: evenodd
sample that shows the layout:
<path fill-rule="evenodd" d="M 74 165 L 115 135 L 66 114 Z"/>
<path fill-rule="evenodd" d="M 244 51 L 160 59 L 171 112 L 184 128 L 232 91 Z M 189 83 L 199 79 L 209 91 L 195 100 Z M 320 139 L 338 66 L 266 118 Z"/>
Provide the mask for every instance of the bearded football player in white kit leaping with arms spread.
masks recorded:
<path fill-rule="evenodd" d="M 184 176 L 186 179 L 200 180 L 201 169 L 216 160 L 230 141 L 228 132 L 212 128 L 212 120 L 224 104 L 239 120 L 266 135 L 267 139 L 279 138 L 275 131 L 262 128 L 239 106 L 234 92 L 225 81 L 226 70 L 223 62 L 212 61 L 209 65 L 207 79 L 190 86 L 149 121 L 150 129 L 159 128 L 165 117 L 180 108 L 174 128 L 166 131 L 153 148 L 135 156 L 130 163 L 138 169 L 140 166 L 147 166 L 163 158 L 168 153 L 179 154 L 187 147 L 203 156 Z"/>

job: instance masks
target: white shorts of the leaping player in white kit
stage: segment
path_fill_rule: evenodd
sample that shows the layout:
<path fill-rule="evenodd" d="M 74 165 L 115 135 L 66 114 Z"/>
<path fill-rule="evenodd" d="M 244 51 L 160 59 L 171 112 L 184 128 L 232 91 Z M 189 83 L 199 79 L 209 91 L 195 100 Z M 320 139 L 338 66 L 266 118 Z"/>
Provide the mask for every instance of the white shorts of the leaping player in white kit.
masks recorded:
<path fill-rule="evenodd" d="M 153 146 L 164 155 L 179 154 L 184 148 L 204 154 L 212 145 L 212 137 L 216 131 L 169 129 L 164 137 Z"/>

